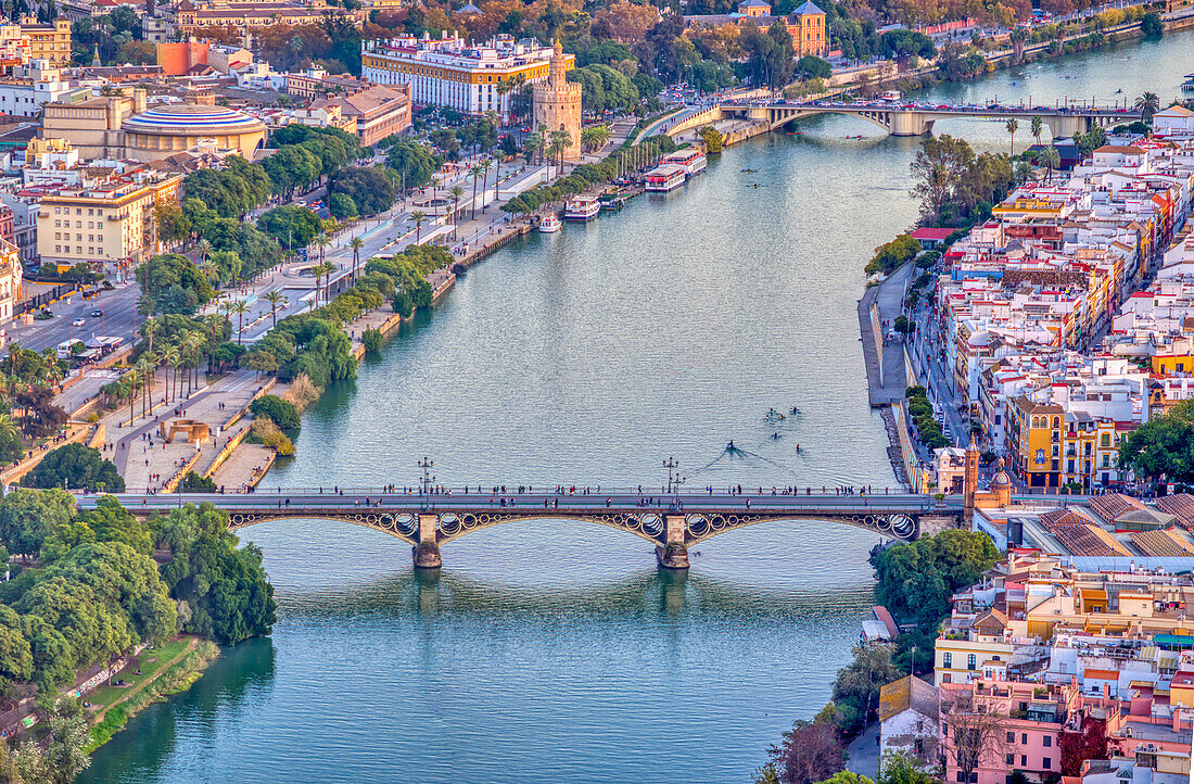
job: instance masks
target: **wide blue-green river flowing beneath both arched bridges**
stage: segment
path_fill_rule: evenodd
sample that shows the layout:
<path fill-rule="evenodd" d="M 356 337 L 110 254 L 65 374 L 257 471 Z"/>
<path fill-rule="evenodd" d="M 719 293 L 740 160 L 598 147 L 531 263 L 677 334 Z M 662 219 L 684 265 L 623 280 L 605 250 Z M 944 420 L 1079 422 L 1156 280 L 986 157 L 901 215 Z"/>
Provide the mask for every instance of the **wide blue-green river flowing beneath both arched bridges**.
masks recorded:
<path fill-rule="evenodd" d="M 1192 47 L 1184 33 L 929 94 L 1169 98 Z M 855 306 L 872 249 L 915 220 L 917 141 L 841 117 L 802 131 L 474 268 L 303 417 L 263 491 L 410 485 L 424 455 L 456 485 L 658 485 L 669 455 L 695 486 L 892 484 Z M 937 133 L 1008 146 L 1002 123 Z M 750 454 L 719 459 L 731 439 Z M 743 782 L 829 699 L 876 541 L 759 525 L 667 578 L 628 534 L 513 523 L 445 546 L 423 583 L 410 546 L 363 528 L 245 539 L 277 588 L 273 636 L 133 719 L 80 782 Z"/>

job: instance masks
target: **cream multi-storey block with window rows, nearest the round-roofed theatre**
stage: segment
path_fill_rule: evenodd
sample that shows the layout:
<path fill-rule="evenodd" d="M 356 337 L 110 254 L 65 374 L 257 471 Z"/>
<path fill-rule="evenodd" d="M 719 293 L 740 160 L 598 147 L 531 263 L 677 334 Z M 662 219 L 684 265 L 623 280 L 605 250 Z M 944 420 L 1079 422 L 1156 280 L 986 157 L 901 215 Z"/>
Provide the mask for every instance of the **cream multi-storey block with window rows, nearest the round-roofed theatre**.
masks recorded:
<path fill-rule="evenodd" d="M 154 207 L 177 201 L 181 174 L 156 180 L 109 180 L 63 189 L 42 200 L 37 251 L 42 264 L 116 264 L 139 261 L 155 245 Z"/>

